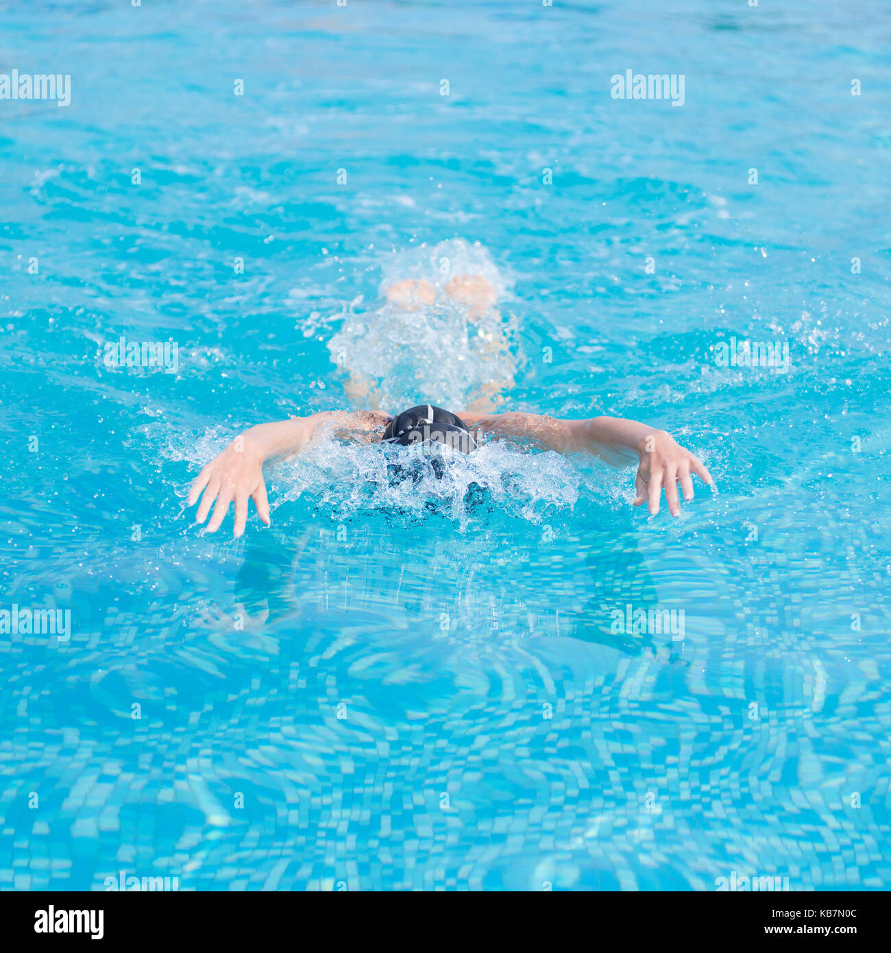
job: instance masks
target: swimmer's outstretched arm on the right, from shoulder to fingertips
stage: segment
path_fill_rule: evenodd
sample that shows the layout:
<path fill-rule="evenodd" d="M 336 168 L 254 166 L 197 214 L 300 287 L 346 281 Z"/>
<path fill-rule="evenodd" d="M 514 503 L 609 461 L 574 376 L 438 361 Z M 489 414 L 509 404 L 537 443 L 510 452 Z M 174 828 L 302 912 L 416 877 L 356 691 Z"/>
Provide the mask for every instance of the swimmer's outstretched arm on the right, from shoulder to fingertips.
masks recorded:
<path fill-rule="evenodd" d="M 679 446 L 673 436 L 638 420 L 622 417 L 591 417 L 587 420 L 559 420 L 540 414 L 461 413 L 462 420 L 483 434 L 517 436 L 533 440 L 546 450 L 558 454 L 586 451 L 617 466 L 638 459 L 635 487 L 638 496 L 634 505 L 645 500 L 649 511 L 656 515 L 662 489 L 672 516 L 680 513 L 678 482 L 684 499 L 693 498 L 693 475 L 714 485 L 711 474 L 699 457 Z"/>

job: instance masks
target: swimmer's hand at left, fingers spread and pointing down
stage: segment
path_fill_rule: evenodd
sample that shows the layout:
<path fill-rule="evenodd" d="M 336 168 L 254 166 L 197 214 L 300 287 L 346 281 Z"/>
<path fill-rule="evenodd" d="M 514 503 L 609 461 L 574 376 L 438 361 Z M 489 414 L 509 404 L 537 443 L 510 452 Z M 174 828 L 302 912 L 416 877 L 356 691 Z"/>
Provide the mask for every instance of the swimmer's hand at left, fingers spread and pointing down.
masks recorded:
<path fill-rule="evenodd" d="M 229 504 L 235 503 L 235 521 L 233 536 L 244 533 L 248 519 L 248 500 L 253 499 L 257 516 L 270 525 L 269 499 L 266 497 L 266 483 L 263 481 L 263 454 L 244 434 L 236 436 L 232 443 L 204 467 L 195 477 L 189 491 L 189 506 L 193 506 L 201 491 L 201 505 L 195 516 L 196 523 L 203 523 L 211 512 L 213 517 L 207 525 L 207 532 L 214 533 L 229 510 Z"/>

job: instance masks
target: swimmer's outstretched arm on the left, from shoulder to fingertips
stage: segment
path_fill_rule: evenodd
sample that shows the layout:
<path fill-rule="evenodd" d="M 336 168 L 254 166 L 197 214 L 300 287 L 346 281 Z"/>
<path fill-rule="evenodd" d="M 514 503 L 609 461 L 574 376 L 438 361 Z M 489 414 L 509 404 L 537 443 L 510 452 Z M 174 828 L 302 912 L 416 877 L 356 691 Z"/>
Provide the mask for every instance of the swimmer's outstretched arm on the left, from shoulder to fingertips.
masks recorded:
<path fill-rule="evenodd" d="M 368 411 L 326 411 L 251 427 L 236 436 L 232 443 L 222 453 L 214 456 L 195 477 L 189 491 L 188 505 L 193 506 L 202 491 L 204 494 L 195 515 L 195 522 L 203 523 L 207 519 L 213 501 L 216 500 L 213 517 L 207 525 L 207 532 L 214 533 L 229 511 L 229 504 L 234 502 L 233 536 L 240 537 L 248 519 L 248 500 L 253 499 L 257 516 L 269 526 L 269 499 L 263 479 L 264 463 L 300 453 L 313 436 L 323 429 L 330 429 L 336 436 L 361 439 L 380 428 L 384 419 L 383 415 Z"/>

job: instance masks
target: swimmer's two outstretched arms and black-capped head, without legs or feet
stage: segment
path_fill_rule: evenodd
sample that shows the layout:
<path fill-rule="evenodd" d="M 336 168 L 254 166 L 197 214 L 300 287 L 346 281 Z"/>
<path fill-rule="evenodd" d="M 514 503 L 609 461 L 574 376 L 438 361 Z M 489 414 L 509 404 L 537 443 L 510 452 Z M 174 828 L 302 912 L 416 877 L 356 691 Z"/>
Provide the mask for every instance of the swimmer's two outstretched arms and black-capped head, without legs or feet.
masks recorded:
<path fill-rule="evenodd" d="M 607 416 L 561 420 L 518 411 L 451 414 L 430 404 L 420 404 L 395 417 L 376 411 L 325 411 L 261 423 L 246 430 L 215 456 L 192 483 L 188 505 L 193 506 L 201 497 L 195 522 L 203 523 L 213 507 L 207 532 L 215 532 L 234 502 L 233 535 L 240 537 L 248 518 L 248 501 L 253 499 L 257 515 L 269 526 L 263 464 L 294 456 L 314 441 L 332 437 L 403 446 L 432 447 L 445 443 L 463 453 L 473 453 L 486 440 L 506 438 L 558 454 L 590 454 L 618 466 L 637 460 L 637 496 L 633 504 L 640 506 L 646 502 L 653 516 L 659 512 L 663 490 L 669 511 L 678 517 L 678 483 L 685 500 L 693 498 L 693 476 L 714 485 L 697 456 L 684 450 L 665 431 L 637 420 Z"/>

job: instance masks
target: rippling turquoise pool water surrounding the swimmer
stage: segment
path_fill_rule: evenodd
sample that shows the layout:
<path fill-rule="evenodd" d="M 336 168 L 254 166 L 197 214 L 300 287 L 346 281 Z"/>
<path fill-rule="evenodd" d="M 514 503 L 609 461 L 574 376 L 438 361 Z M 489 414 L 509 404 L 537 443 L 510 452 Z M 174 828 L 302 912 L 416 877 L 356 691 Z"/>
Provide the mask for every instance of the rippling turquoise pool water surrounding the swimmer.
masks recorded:
<path fill-rule="evenodd" d="M 0 635 L 0 886 L 891 885 L 884 4 L 0 23 L 0 73 L 71 76 L 0 100 L 0 609 L 71 613 Z M 493 372 L 374 335 L 445 257 L 499 290 L 507 406 L 651 421 L 719 494 L 650 519 L 631 471 L 502 447 L 426 507 L 327 447 L 270 472 L 272 529 L 201 536 L 240 429 L 375 362 L 391 411 Z M 106 366 L 122 335 L 175 371 Z"/>

